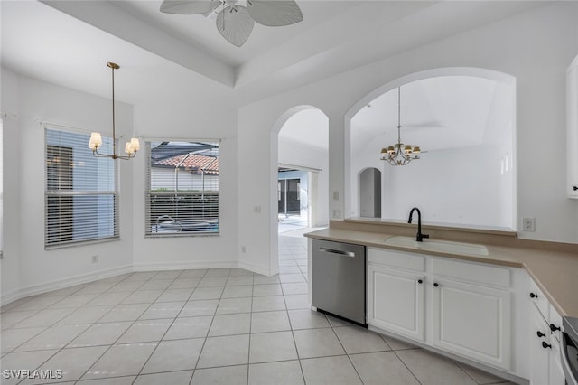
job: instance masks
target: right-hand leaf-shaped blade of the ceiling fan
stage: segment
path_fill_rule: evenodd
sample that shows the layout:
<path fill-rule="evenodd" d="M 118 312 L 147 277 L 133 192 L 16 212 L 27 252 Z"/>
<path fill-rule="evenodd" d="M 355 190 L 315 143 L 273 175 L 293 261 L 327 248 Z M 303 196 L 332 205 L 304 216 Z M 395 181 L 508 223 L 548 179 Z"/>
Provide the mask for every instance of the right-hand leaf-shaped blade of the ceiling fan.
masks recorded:
<path fill-rule="evenodd" d="M 247 0 L 247 10 L 253 20 L 269 27 L 299 23 L 303 14 L 294 0 Z"/>

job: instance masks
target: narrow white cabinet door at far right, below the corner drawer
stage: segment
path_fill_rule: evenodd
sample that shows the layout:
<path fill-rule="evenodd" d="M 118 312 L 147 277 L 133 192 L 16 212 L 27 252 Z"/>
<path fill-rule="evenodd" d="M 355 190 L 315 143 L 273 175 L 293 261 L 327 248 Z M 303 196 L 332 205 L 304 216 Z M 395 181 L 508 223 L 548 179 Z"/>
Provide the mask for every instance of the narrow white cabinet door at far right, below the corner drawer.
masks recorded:
<path fill-rule="evenodd" d="M 530 312 L 530 384 L 547 385 L 550 329 L 536 305 L 532 305 Z M 546 343 L 546 348 L 543 343 Z"/>

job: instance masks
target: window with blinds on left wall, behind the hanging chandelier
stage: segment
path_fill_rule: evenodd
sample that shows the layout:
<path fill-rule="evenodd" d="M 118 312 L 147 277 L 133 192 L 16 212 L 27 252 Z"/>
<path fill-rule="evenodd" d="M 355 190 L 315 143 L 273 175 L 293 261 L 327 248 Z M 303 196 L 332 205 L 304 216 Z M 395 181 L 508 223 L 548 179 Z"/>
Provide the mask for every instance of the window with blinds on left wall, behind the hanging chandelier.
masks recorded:
<path fill-rule="evenodd" d="M 115 161 L 94 157 L 89 134 L 46 127 L 44 246 L 118 238 Z M 103 152 L 112 139 L 103 137 Z"/>

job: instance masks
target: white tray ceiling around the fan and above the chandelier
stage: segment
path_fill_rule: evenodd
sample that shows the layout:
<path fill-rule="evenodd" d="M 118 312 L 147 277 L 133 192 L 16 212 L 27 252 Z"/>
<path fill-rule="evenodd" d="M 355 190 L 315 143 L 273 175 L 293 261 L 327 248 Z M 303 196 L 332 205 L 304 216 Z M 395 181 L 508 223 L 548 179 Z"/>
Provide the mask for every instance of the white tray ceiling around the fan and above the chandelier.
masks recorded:
<path fill-rule="evenodd" d="M 544 4 L 298 0 L 302 23 L 256 24 L 246 44 L 237 48 L 220 36 L 214 20 L 163 14 L 158 11 L 161 3 L 2 0 L 2 65 L 109 98 L 105 62 L 116 61 L 122 70 L 117 76 L 118 100 L 138 104 L 154 90 L 157 98 L 214 99 L 234 107 Z M 435 108 L 448 111 L 454 102 L 448 99 L 449 104 Z M 432 111 L 415 121 L 447 125 L 443 115 Z M 380 126 L 383 118 L 375 121 L 374 126 Z M 410 117 L 406 123 L 412 123 Z"/>

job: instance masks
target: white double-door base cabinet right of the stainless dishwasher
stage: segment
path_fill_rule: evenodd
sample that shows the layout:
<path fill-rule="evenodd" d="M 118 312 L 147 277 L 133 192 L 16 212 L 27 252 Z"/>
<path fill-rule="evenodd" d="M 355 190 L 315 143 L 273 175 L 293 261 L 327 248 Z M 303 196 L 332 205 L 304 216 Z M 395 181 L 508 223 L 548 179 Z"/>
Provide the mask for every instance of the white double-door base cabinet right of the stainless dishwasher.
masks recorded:
<path fill-rule="evenodd" d="M 508 268 L 368 248 L 368 324 L 511 369 Z"/>

